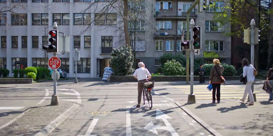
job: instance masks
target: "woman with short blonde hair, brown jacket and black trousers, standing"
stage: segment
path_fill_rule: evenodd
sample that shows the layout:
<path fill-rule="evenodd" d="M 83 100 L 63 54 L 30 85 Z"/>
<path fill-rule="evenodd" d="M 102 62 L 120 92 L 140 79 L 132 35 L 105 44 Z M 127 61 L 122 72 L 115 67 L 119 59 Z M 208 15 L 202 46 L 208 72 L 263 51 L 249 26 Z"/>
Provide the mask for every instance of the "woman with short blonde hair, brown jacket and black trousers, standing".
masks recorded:
<path fill-rule="evenodd" d="M 210 74 L 210 82 L 209 84 L 212 84 L 212 103 L 215 103 L 215 93 L 217 90 L 217 103 L 220 103 L 220 86 L 222 80 L 221 76 L 223 76 L 224 67 L 220 65 L 220 60 L 213 59 L 214 66 L 211 68 L 211 74 Z"/>

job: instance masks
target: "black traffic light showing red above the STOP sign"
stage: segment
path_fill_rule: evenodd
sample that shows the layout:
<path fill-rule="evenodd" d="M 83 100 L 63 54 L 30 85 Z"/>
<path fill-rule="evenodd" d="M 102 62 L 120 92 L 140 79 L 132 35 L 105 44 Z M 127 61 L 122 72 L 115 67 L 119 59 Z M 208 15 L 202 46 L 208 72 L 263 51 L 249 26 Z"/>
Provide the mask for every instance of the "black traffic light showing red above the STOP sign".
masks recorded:
<path fill-rule="evenodd" d="M 43 45 L 43 49 L 46 50 L 47 53 L 55 53 L 58 52 L 58 30 L 49 31 L 49 45 Z"/>

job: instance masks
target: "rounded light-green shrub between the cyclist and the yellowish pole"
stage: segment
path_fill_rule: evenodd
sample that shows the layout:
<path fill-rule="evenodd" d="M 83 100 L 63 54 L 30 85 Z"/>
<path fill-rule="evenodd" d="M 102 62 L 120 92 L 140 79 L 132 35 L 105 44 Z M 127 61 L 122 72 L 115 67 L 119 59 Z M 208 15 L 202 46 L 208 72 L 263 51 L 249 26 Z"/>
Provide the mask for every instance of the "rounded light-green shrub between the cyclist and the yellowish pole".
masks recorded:
<path fill-rule="evenodd" d="M 186 68 L 182 67 L 176 60 L 167 60 L 164 63 L 163 72 L 165 76 L 182 76 L 186 74 Z"/>

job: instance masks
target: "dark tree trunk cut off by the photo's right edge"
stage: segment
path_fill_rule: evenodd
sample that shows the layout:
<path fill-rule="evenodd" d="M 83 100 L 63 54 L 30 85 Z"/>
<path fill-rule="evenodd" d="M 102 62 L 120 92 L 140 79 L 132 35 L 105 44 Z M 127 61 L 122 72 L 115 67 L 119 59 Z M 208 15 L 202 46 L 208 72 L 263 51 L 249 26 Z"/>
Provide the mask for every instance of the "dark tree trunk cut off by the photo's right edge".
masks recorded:
<path fill-rule="evenodd" d="M 273 10 L 273 4 L 271 3 L 271 7 L 270 7 L 271 10 Z M 269 33 L 268 33 L 268 57 L 267 57 L 267 68 L 271 68 L 272 66 L 272 34 L 273 34 L 273 15 L 269 15 L 269 18 L 270 18 L 270 30 L 269 30 Z"/>

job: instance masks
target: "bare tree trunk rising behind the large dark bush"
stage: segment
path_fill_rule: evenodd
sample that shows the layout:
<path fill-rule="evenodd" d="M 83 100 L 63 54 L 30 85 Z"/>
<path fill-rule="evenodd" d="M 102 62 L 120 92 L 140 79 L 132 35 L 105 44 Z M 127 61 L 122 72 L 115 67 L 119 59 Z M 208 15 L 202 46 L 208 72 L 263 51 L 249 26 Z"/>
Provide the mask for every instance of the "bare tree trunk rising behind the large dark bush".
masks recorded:
<path fill-rule="evenodd" d="M 125 34 L 125 43 L 129 45 L 129 47 L 131 47 L 130 44 L 130 35 L 129 35 L 129 31 L 128 31 L 128 12 L 129 12 L 129 8 L 128 8 L 128 0 L 123 0 L 124 2 L 124 34 Z"/>

